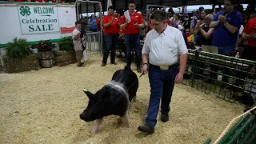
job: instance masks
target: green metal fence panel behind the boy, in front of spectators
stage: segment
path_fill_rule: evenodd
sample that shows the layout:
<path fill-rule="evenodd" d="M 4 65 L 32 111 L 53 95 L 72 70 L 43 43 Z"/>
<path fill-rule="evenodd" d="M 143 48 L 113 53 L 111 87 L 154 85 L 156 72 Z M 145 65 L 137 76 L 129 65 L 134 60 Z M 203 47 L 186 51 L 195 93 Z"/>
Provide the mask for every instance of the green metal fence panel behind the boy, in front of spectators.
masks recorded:
<path fill-rule="evenodd" d="M 185 85 L 246 106 L 256 98 L 256 62 L 189 50 Z"/>

